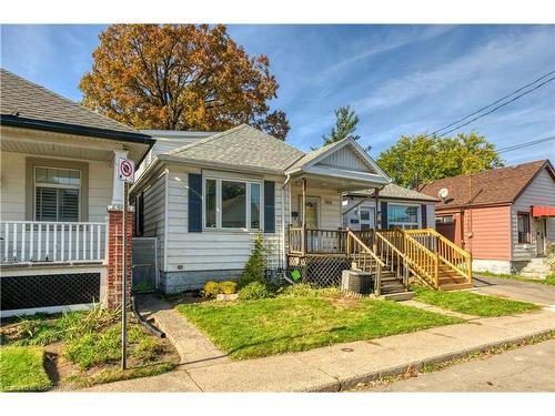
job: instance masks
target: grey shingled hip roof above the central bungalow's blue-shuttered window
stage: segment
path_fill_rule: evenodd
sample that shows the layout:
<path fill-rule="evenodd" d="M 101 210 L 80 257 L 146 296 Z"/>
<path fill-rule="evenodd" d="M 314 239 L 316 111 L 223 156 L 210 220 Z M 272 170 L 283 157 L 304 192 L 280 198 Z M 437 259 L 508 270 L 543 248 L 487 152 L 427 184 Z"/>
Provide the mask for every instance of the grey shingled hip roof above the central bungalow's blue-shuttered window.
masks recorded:
<path fill-rule="evenodd" d="M 248 124 L 165 153 L 172 158 L 283 173 L 304 152 Z"/>

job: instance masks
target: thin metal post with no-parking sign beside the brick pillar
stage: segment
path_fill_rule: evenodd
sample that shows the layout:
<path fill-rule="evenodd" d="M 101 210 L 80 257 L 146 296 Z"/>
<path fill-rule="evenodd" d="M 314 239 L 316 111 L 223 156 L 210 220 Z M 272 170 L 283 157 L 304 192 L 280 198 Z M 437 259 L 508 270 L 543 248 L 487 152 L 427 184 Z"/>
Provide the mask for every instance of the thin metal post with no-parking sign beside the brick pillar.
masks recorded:
<path fill-rule="evenodd" d="M 127 213 L 129 206 L 128 183 L 134 182 L 135 166 L 133 161 L 120 158 L 118 160 L 118 177 L 123 182 L 122 214 L 122 281 L 121 281 L 121 369 L 128 367 L 128 255 L 127 255 Z"/>

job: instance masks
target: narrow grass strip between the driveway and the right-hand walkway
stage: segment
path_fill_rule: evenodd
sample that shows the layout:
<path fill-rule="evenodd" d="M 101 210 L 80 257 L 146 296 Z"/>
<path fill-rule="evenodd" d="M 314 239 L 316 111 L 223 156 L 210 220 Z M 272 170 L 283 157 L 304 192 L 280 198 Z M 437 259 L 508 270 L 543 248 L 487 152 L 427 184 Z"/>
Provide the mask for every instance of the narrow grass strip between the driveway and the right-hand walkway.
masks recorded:
<path fill-rule="evenodd" d="M 415 301 L 467 315 L 503 316 L 539 308 L 539 306 L 527 302 L 478 295 L 471 292 L 441 292 L 418 285 L 412 285 L 411 290 L 416 293 Z"/>

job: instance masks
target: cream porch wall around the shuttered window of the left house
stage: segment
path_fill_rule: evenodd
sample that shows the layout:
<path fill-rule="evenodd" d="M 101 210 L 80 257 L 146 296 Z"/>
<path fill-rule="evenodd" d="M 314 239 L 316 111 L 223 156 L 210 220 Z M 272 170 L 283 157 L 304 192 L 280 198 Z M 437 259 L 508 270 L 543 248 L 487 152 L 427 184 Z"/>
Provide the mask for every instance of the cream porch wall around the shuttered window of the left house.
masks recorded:
<path fill-rule="evenodd" d="M 26 220 L 26 156 L 24 153 L 1 152 L 0 204 L 2 221 Z M 68 160 L 48 158 L 50 160 Z M 107 207 L 112 200 L 113 166 L 109 162 L 83 161 L 89 164 L 89 219 L 90 222 L 105 222 Z"/>

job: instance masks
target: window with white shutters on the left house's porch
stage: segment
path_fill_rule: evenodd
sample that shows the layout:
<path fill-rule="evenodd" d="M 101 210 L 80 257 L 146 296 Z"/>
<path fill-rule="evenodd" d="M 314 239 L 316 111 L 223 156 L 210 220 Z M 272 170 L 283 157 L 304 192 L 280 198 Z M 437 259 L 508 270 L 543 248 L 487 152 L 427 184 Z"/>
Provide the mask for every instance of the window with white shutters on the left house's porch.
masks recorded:
<path fill-rule="evenodd" d="M 34 166 L 34 220 L 79 221 L 81 171 Z"/>

